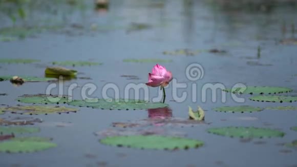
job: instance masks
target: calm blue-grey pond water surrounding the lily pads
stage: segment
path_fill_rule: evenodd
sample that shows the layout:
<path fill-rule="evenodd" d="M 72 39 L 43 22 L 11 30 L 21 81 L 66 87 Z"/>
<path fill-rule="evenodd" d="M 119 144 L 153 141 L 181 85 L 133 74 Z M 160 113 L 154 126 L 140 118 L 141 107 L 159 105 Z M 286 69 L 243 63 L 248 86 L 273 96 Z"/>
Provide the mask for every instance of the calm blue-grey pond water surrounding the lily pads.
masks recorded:
<path fill-rule="evenodd" d="M 34 2 L 34 1 L 33 1 Z M 44 1 L 41 1 L 44 2 Z M 111 129 L 113 122 L 147 119 L 148 110 L 101 110 L 81 107 L 77 113 L 32 115 L 41 118 L 37 134 L 53 138 L 56 148 L 23 154 L 0 153 L 0 166 L 296 166 L 296 149 L 285 147 L 297 139 L 296 111 L 263 110 L 252 113 L 216 112 L 222 106 L 248 105 L 253 107 L 293 106 L 296 102 L 251 101 L 252 95 L 242 95 L 245 102 L 237 102 L 218 90 L 204 92 L 205 85 L 220 83 L 231 88 L 237 83 L 247 86 L 286 87 L 297 93 L 297 3 L 265 1 L 261 5 L 225 1 L 110 1 L 107 10 L 94 9 L 93 1 L 67 5 L 58 1 L 44 5 L 22 4 L 27 11 L 26 19 L 12 20 L 4 9 L 14 7 L 1 5 L 0 58 L 39 59 L 32 64 L 0 64 L 1 76 L 45 76 L 45 68 L 52 61 L 96 61 L 99 66 L 68 67 L 77 70 L 76 79 L 65 80 L 62 90 L 53 89 L 52 94 L 68 94 L 73 83 L 73 99 L 82 99 L 81 92 L 87 83 L 96 86 L 88 97 L 104 98 L 102 89 L 107 84 L 119 88 L 120 98 L 136 98 L 134 93 L 125 94 L 129 83 L 145 83 L 147 75 L 158 63 L 173 73 L 174 81 L 184 83 L 186 88 L 175 90 L 173 82 L 166 90 L 165 103 L 172 110 L 161 109 L 172 118 L 188 118 L 188 106 L 205 111 L 205 122 L 194 126 L 152 126 L 161 134 L 183 134 L 187 138 L 204 141 L 198 149 L 165 151 L 149 149 L 118 148 L 101 144 L 96 132 Z M 5 4 L 5 3 L 4 3 Z M 32 4 L 32 2 L 29 4 Z M 33 3 L 34 4 L 34 3 Z M 15 4 L 14 4 L 15 5 Z M 242 7 L 244 6 L 244 7 Z M 254 8 L 254 10 L 252 10 Z M 136 25 L 136 26 L 135 26 Z M 30 26 L 44 27 L 43 32 Z M 20 30 L 23 29 L 23 30 Z M 30 32 L 30 34 L 28 34 Z M 6 40 L 4 40 L 6 38 Z M 20 39 L 19 39 L 20 38 Z M 10 41 L 7 41 L 7 40 Z M 295 39 L 291 45 L 280 41 Z M 259 53 L 259 49 L 260 53 Z M 188 49 L 195 55 L 164 54 Z M 205 50 L 224 50 L 211 53 Z M 164 59 L 171 62 L 124 62 L 124 59 Z M 190 80 L 187 67 L 199 64 L 203 77 Z M 121 75 L 134 75 L 129 79 Z M 90 77 L 91 79 L 80 79 Z M 3 105 L 29 105 L 15 99 L 24 94 L 45 94 L 50 82 L 25 82 L 14 86 L 9 81 L 0 82 L 0 103 Z M 196 85 L 195 85 L 196 84 Z M 196 90 L 193 89 L 193 85 Z M 90 85 L 89 85 L 90 86 Z M 149 97 L 158 95 L 159 88 L 149 88 Z M 187 93 L 184 100 L 179 101 Z M 193 92 L 197 93 L 193 100 Z M 115 94 L 107 92 L 110 98 Z M 216 100 L 212 100 L 211 98 Z M 140 91 L 144 98 L 144 91 Z M 206 98 L 203 100 L 203 98 Z M 68 105 L 61 105 L 67 106 Z M 166 111 L 164 111 L 166 110 Z M 158 113 L 157 113 L 158 114 Z M 162 114 L 162 113 L 161 113 Z M 0 118 L 17 117 L 5 113 Z M 243 126 L 278 129 L 283 137 L 244 140 L 207 133 L 208 128 Z M 30 126 L 28 126 L 30 127 Z M 260 144 L 259 144 L 260 143 Z"/>

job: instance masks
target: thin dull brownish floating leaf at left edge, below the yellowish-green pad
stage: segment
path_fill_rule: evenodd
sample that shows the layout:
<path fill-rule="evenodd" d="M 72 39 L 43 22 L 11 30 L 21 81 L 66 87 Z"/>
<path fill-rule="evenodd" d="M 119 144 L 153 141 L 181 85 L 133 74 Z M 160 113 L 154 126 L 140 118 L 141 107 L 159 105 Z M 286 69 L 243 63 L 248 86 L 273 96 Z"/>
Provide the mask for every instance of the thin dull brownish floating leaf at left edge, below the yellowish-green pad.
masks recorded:
<path fill-rule="evenodd" d="M 24 125 L 33 125 L 34 123 L 43 122 L 40 118 L 31 118 L 31 117 L 16 117 L 16 118 L 0 118 L 0 125 L 10 126 L 24 126 Z"/>

